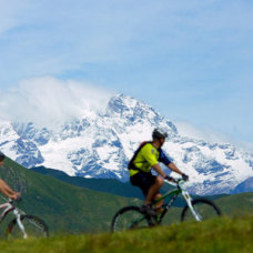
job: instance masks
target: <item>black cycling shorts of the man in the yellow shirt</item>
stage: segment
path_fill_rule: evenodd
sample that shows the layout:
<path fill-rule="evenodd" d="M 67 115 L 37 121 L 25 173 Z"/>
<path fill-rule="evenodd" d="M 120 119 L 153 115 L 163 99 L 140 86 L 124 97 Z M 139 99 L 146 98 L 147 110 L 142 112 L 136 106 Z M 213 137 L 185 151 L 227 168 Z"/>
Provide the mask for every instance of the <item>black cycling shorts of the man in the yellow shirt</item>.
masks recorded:
<path fill-rule="evenodd" d="M 146 195 L 150 188 L 154 184 L 156 176 L 152 173 L 145 173 L 139 171 L 136 174 L 130 178 L 132 185 L 139 186 L 143 194 Z"/>

